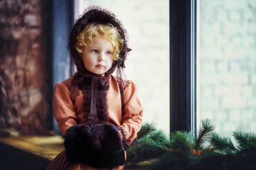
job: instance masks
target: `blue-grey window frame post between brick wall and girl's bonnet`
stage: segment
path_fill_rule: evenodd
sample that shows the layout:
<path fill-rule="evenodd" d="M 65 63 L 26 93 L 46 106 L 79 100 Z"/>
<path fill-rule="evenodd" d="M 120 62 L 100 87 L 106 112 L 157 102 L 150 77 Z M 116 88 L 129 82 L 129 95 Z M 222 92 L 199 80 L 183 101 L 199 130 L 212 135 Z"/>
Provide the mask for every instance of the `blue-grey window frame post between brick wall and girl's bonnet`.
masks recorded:
<path fill-rule="evenodd" d="M 66 47 L 68 35 L 73 26 L 73 9 L 74 4 L 72 0 L 52 1 L 52 89 L 55 88 L 57 82 L 63 82 L 72 75 L 70 64 L 72 59 Z M 67 67 L 69 69 L 68 73 L 65 71 Z M 61 135 L 58 122 L 56 122 L 54 116 L 52 116 L 52 119 L 54 134 Z"/>

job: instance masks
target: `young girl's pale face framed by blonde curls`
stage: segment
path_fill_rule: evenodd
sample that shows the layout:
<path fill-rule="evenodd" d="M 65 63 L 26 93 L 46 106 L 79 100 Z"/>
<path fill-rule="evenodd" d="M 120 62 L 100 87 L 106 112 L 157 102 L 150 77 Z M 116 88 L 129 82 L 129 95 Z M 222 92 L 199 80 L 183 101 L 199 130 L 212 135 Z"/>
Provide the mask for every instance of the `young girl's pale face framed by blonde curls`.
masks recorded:
<path fill-rule="evenodd" d="M 104 74 L 113 63 L 113 45 L 100 37 L 93 39 L 92 44 L 82 54 L 85 68 L 94 74 Z"/>

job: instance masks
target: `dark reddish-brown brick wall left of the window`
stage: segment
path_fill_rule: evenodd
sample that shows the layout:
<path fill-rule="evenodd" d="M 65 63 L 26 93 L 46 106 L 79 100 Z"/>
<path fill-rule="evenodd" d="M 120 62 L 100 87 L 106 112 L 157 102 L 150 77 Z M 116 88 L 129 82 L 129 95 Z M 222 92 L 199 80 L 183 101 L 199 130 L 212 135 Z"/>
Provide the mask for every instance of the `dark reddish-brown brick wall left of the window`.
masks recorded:
<path fill-rule="evenodd" d="M 50 0 L 1 0 L 0 136 L 52 131 Z"/>

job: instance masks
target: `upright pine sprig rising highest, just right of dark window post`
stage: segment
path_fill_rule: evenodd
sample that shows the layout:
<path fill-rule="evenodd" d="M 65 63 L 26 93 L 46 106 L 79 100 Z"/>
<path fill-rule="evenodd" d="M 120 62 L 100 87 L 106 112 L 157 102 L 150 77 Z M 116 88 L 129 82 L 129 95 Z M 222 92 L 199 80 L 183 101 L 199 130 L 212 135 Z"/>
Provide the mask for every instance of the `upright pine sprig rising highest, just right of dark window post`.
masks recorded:
<path fill-rule="evenodd" d="M 206 142 L 207 137 L 209 137 L 209 134 L 215 130 L 215 125 L 210 122 L 209 119 L 202 120 L 201 126 L 199 127 L 198 132 L 198 139 L 196 140 L 195 144 L 195 150 L 199 150 L 199 147 L 201 144 Z"/>

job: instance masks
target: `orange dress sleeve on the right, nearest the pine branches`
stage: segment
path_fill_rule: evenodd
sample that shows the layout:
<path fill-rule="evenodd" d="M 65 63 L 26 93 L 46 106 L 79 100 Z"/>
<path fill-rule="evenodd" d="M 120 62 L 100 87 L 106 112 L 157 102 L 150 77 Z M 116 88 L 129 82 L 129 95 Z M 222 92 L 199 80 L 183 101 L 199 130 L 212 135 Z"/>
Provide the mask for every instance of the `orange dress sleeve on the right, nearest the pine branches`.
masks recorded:
<path fill-rule="evenodd" d="M 138 99 L 134 82 L 128 81 L 127 85 L 128 87 L 124 90 L 125 112 L 119 133 L 123 143 L 129 146 L 137 138 L 137 133 L 142 126 L 143 107 Z"/>

